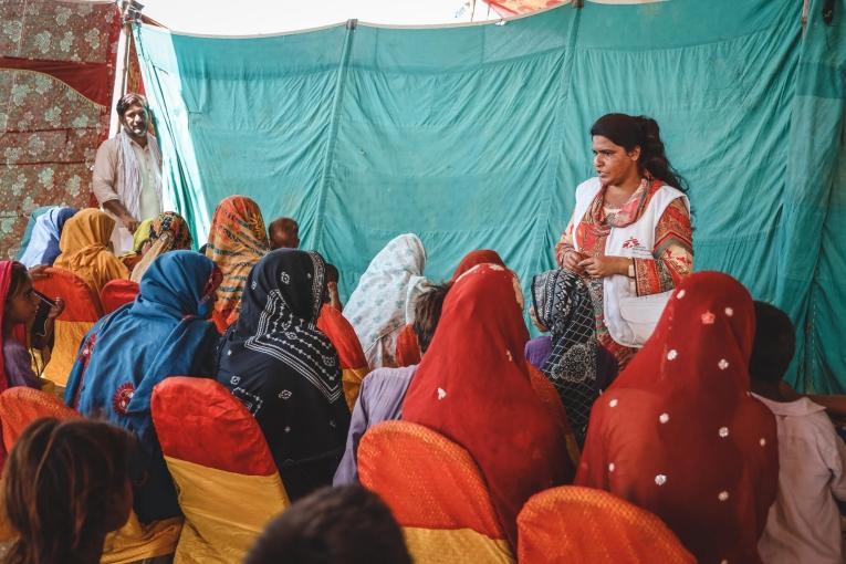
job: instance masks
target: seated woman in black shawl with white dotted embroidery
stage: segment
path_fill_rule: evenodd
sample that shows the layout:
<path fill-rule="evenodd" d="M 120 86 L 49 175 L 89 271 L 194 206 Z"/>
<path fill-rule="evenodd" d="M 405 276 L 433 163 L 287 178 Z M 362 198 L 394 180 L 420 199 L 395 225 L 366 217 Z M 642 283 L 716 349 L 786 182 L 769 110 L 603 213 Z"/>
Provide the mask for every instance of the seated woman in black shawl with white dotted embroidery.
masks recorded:
<path fill-rule="evenodd" d="M 292 501 L 332 484 L 349 428 L 337 352 L 315 326 L 325 292 L 320 254 L 268 253 L 218 351 L 217 380 L 255 417 Z"/>

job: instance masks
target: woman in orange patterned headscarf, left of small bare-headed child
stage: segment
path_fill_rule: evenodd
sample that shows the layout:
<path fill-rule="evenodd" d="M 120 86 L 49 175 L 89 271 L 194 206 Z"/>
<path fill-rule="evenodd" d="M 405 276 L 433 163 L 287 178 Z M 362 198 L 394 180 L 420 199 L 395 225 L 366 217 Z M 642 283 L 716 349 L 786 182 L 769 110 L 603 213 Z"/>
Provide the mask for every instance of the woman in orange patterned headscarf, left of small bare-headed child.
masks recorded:
<path fill-rule="evenodd" d="M 223 333 L 238 320 L 250 269 L 270 250 L 259 205 L 247 196 L 224 198 L 215 210 L 203 253 L 223 273 L 212 321 Z"/>

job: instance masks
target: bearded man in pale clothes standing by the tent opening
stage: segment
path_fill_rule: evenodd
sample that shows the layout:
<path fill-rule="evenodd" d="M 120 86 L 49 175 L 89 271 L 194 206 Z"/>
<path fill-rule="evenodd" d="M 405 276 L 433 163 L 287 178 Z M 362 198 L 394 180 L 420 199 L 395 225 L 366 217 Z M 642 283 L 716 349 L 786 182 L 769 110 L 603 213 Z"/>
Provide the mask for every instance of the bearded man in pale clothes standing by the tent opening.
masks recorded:
<path fill-rule="evenodd" d="M 161 153 L 148 133 L 149 108 L 140 94 L 117 102 L 121 130 L 103 142 L 94 160 L 93 190 L 115 221 L 115 254 L 132 250 L 133 234 L 145 219 L 161 212 Z"/>

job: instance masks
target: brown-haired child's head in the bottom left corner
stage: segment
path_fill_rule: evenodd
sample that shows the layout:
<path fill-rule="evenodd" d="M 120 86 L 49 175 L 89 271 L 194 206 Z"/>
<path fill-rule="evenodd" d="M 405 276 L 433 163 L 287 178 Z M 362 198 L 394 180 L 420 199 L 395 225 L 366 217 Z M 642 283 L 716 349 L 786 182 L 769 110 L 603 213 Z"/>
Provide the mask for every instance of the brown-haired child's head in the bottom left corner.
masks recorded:
<path fill-rule="evenodd" d="M 132 511 L 132 437 L 105 422 L 30 425 L 3 469 L 3 510 L 19 534 L 3 562 L 100 562 L 106 534 Z"/>

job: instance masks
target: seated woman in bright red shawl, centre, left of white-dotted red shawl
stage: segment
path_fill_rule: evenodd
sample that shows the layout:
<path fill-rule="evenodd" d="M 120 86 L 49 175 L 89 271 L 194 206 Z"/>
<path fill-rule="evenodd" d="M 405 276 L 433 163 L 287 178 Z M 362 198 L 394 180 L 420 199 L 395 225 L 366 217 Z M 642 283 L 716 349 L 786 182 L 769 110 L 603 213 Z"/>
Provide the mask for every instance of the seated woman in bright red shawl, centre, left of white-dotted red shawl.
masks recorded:
<path fill-rule="evenodd" d="M 481 264 L 447 294 L 403 419 L 429 427 L 473 457 L 512 545 L 525 501 L 573 476 L 561 421 L 530 383 L 523 295 L 515 276 Z"/>

